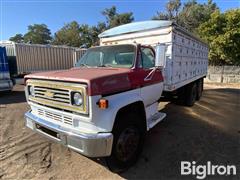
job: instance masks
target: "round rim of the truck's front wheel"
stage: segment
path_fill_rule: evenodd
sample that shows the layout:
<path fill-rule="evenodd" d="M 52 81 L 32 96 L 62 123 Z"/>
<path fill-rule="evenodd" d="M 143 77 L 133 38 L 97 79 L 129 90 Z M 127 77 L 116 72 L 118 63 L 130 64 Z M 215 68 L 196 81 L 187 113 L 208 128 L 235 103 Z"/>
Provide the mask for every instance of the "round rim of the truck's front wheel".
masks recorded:
<path fill-rule="evenodd" d="M 139 145 L 140 133 L 136 128 L 126 128 L 120 134 L 116 143 L 116 153 L 119 160 L 130 160 L 136 153 Z"/>

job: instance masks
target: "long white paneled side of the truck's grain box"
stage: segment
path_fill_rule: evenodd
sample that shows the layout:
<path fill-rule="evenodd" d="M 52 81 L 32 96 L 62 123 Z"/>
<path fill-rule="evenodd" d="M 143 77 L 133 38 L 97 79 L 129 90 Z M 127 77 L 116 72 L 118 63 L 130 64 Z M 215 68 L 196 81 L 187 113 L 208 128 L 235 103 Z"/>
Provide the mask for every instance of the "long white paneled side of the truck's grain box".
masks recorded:
<path fill-rule="evenodd" d="M 173 91 L 207 75 L 206 44 L 176 30 L 173 31 L 172 43 L 172 81 L 165 82 L 165 91 Z"/>

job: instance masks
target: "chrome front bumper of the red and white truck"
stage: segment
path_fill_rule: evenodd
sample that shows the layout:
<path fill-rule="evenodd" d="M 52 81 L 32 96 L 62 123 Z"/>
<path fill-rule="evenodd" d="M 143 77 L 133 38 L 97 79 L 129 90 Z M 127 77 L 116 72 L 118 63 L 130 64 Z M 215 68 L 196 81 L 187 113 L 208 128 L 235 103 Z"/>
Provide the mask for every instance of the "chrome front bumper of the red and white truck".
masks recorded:
<path fill-rule="evenodd" d="M 39 118 L 28 111 L 26 126 L 45 137 L 61 143 L 88 157 L 109 156 L 112 151 L 112 133 L 83 134 Z"/>

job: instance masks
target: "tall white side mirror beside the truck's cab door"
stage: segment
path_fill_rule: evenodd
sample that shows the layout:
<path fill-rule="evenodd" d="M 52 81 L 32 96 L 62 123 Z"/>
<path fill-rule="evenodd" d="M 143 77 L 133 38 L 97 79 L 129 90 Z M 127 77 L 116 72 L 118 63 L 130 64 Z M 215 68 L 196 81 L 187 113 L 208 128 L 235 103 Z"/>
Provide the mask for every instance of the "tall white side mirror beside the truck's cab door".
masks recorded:
<path fill-rule="evenodd" d="M 165 67 L 166 66 L 166 45 L 158 44 L 156 46 L 156 58 L 155 67 Z"/>

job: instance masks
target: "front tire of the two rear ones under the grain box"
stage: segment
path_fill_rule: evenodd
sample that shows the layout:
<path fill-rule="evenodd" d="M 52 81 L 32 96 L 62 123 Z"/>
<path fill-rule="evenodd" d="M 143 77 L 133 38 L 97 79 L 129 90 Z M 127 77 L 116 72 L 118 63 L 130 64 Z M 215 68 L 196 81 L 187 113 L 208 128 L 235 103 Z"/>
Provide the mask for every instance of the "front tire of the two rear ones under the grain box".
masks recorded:
<path fill-rule="evenodd" d="M 185 105 L 186 106 L 193 106 L 195 101 L 196 101 L 196 97 L 197 97 L 197 85 L 196 83 L 191 83 L 188 85 L 187 87 L 187 91 L 186 91 L 186 99 L 185 99 Z"/>

